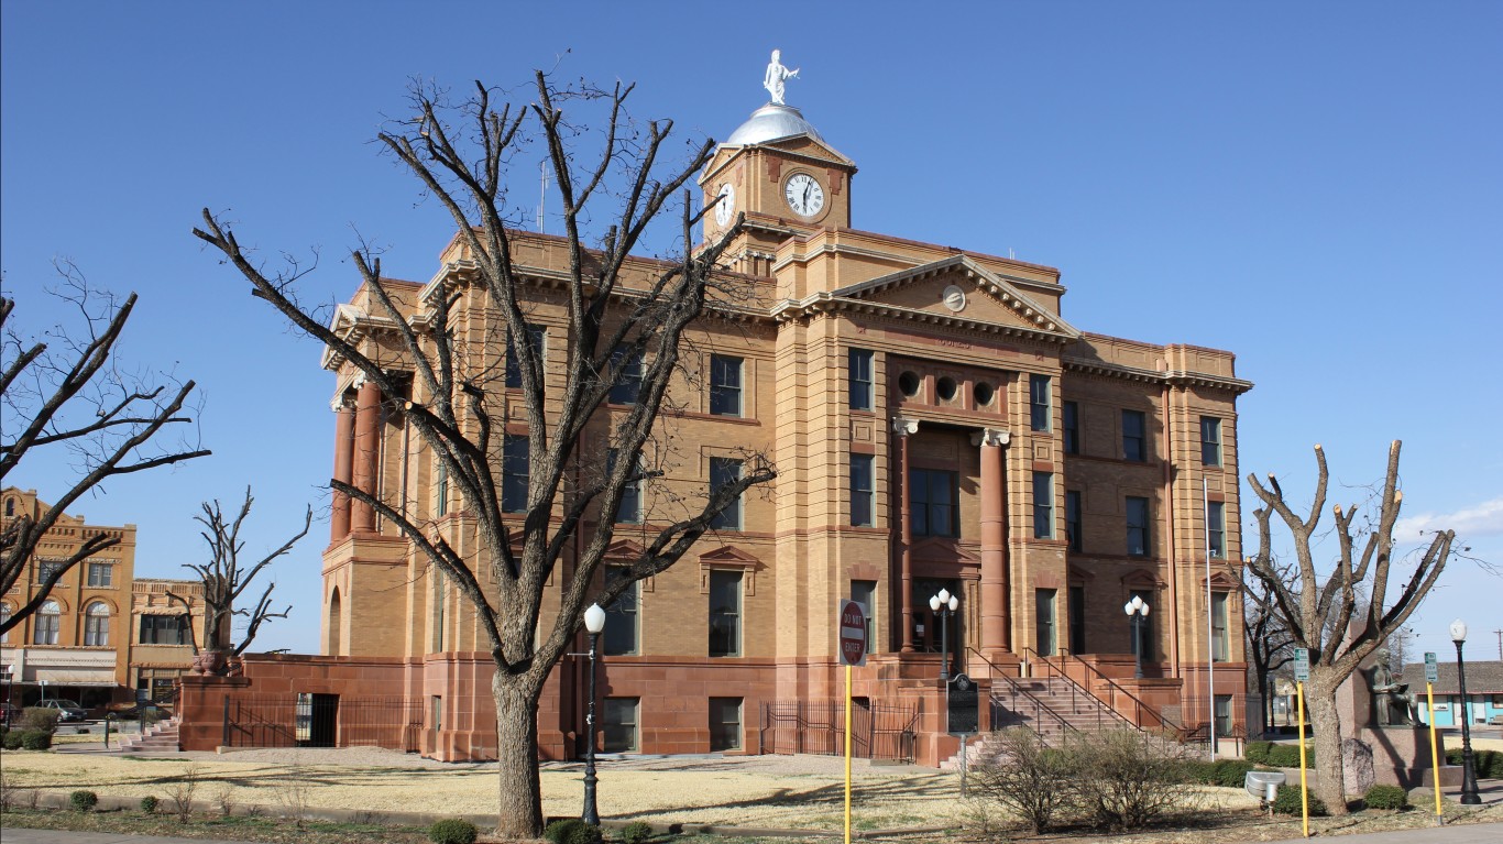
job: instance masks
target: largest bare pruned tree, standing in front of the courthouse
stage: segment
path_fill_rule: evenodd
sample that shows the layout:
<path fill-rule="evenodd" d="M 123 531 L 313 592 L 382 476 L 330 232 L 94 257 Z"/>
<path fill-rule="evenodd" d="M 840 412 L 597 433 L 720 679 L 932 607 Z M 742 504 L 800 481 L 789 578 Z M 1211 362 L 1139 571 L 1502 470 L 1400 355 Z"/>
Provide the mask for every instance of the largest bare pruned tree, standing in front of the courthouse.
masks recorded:
<path fill-rule="evenodd" d="M 709 161 L 712 140 L 693 143 L 687 158 L 672 164 L 673 123 L 633 122 L 625 111 L 631 86 L 561 87 L 538 72 L 531 87 L 535 99 L 514 107 L 493 102 L 494 92 L 481 83 L 461 104 L 415 86 L 410 117 L 377 135 L 383 150 L 449 214 L 458 229 L 457 244 L 470 262 L 463 281 L 451 277 L 425 299 L 413 301 L 410 289 L 398 290 L 382 277 L 380 259 L 370 248 L 356 248 L 353 266 L 374 316 L 386 325 L 380 343 L 332 331 L 302 308 L 295 295 L 302 269 L 262 266 L 230 226 L 207 209 L 203 227 L 194 229 L 251 283 L 253 295 L 398 400 L 404 424 L 463 499 L 473 525 L 466 542 L 478 545 L 478 555 L 461 552 L 443 531 L 430 530 L 419 509 L 340 480 L 331 483 L 337 495 L 373 507 L 395 525 L 473 608 L 496 665 L 491 695 L 500 779 L 497 833 L 517 838 L 537 836 L 543 827 L 538 697 L 555 663 L 577 639 L 583 609 L 597 602 L 609 605 L 634 581 L 669 569 L 747 489 L 776 477 L 764 456 L 748 454 L 739 477 L 709 484 L 702 499 L 685 499 L 693 505 L 682 507 L 672 524 L 637 534 L 645 540 L 643 551 L 621 569 L 624 576 L 603 585 L 600 570 L 612 543 L 612 519 L 598 519 L 592 531 L 582 525 L 591 512 L 616 512 L 628 484 L 658 471 L 634 459 L 606 460 L 600 441 L 609 441 L 618 454 L 637 457 L 649 441 L 669 436 L 669 388 L 684 376 L 693 332 L 715 314 L 747 316 L 752 284 L 717 274 L 721 253 L 741 230 L 739 220 L 717 242 L 694 250 L 694 229 L 705 211 L 693 208 L 687 185 Z M 574 123 L 565 105 L 571 113 L 576 107 L 598 107 L 603 125 L 589 131 Z M 520 229 L 514 229 L 507 205 L 508 165 L 531 141 L 540 141 L 562 199 L 558 250 L 565 256 L 564 266 L 546 278 L 519 266 Z M 531 167 L 520 170 L 520 184 L 531 187 L 535 178 Z M 660 217 L 673 223 L 675 257 L 631 259 Z M 561 388 L 544 378 L 540 349 L 522 340 L 529 337 L 529 313 L 544 293 L 555 296 L 567 320 L 567 349 L 549 361 L 549 376 Z M 491 332 L 479 343 L 473 332 L 461 335 L 455 325 L 463 314 L 482 314 Z M 510 339 L 519 342 L 507 343 Z M 507 367 L 500 367 L 497 351 L 508 345 Z M 607 415 L 609 391 L 628 366 L 636 400 L 630 411 Z M 520 384 L 526 421 L 529 483 L 517 513 L 504 512 L 499 483 L 505 439 L 499 427 L 508 412 L 504 369 L 511 369 Z M 401 402 L 404 396 L 410 399 Z M 514 406 L 516 399 L 511 402 Z M 586 438 L 588 432 L 595 436 Z M 576 481 L 573 469 L 582 465 L 592 471 L 580 472 Z M 570 560 L 561 566 L 565 551 Z M 556 585 L 549 587 L 550 578 Z M 544 618 L 544 593 L 550 588 L 558 612 Z"/>

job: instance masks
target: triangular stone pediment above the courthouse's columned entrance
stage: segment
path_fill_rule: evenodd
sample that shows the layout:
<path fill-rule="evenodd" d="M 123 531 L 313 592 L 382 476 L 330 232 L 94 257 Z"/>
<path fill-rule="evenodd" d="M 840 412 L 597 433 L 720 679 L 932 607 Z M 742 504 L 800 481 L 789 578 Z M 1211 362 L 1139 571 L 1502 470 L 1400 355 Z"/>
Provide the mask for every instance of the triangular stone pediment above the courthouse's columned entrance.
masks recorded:
<path fill-rule="evenodd" d="M 833 296 L 884 305 L 920 320 L 1061 340 L 1081 337 L 1073 325 L 963 254 L 842 287 Z"/>

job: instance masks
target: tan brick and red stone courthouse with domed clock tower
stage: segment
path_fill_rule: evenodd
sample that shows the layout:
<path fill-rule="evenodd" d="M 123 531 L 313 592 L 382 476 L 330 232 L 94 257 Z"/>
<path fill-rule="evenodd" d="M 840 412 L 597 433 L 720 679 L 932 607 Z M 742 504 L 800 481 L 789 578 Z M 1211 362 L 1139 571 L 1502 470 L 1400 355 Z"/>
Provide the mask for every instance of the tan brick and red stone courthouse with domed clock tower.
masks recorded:
<path fill-rule="evenodd" d="M 1184 724 L 1204 722 L 1192 697 L 1199 689 L 1204 701 L 1208 662 L 1217 695 L 1244 691 L 1235 399 L 1250 384 L 1234 357 L 1081 331 L 1049 266 L 852 229 L 855 170 L 795 108 L 767 105 L 700 176 L 705 202 L 724 208 L 706 220 L 706 239 L 747 215 L 726 275 L 752 299 L 694 337 L 685 361 L 697 372 L 676 384 L 681 412 L 661 421 L 652 456 L 664 475 L 616 515 L 621 558 L 681 515 L 675 499 L 736 471 L 742 450 L 768 454 L 779 478 L 613 608 L 603 749 L 758 752 L 770 704 L 839 697 L 836 602 L 855 597 L 873 618 L 857 695 L 911 713 L 914 755 L 933 763 L 954 748 L 927 603 L 941 588 L 959 596 L 945 632 L 951 669 L 983 691 L 993 674 L 1073 654 Z M 529 342 L 562 360 L 570 339 L 550 278 L 567 265 L 565 244 L 517 233 L 514 253 L 537 283 Z M 394 289 L 413 314 L 454 290 L 460 335 L 490 337 L 458 239 L 440 262 L 427 284 Z M 335 328 L 383 343 L 389 328 L 368 296 L 341 305 Z M 470 354 L 500 361 L 505 343 Z M 325 366 L 338 379 L 335 477 L 416 509 L 473 551 L 463 501 L 404 427 L 406 397 L 382 396 L 335 357 Z M 520 406 L 507 432 L 526 433 Z M 473 567 L 487 570 L 484 560 Z M 1133 596 L 1153 606 L 1141 642 L 1121 609 Z M 1133 680 L 1139 645 L 1147 677 Z M 219 730 L 215 701 L 231 688 L 389 698 L 406 713 L 407 749 L 494 752 L 491 662 L 472 612 L 359 502 L 335 501 L 322 648 L 253 657 L 243 679 L 219 686 L 191 683 L 206 695 L 203 731 Z M 567 657 L 543 695 L 549 758 L 582 751 L 585 665 Z"/>

